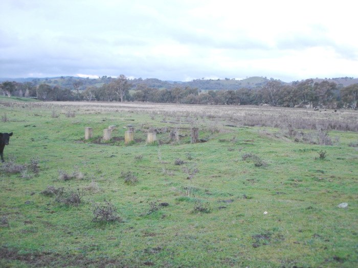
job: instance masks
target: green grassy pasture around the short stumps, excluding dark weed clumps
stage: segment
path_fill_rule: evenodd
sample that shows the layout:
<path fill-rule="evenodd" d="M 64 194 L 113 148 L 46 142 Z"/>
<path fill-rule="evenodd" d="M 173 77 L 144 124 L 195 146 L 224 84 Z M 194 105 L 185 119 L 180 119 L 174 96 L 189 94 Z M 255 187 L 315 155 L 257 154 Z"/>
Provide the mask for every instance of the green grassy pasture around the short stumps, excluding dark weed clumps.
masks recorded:
<path fill-rule="evenodd" d="M 216 129 L 215 118 L 51 107 L 0 99 L 0 132 L 14 132 L 5 160 L 27 166 L 0 164 L 1 267 L 358 266 L 358 133 L 330 131 L 333 145 L 319 145 L 275 128 Z M 190 143 L 193 124 L 206 142 Z M 111 125 L 114 139 L 102 142 Z M 128 125 L 136 141 L 125 145 Z M 158 144 L 146 144 L 150 127 L 162 130 Z M 125 183 L 128 172 L 138 181 Z M 80 204 L 46 196 L 47 186 L 79 192 Z M 120 220 L 93 221 L 104 200 Z"/>

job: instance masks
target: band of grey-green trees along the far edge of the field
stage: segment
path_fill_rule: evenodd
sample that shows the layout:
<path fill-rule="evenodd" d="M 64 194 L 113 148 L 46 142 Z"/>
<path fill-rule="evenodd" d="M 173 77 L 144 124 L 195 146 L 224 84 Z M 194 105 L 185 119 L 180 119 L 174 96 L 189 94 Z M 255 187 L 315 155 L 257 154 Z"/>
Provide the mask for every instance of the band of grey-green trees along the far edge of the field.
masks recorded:
<path fill-rule="evenodd" d="M 314 82 L 307 79 L 292 84 L 270 79 L 255 88 L 236 90 L 198 90 L 194 87 L 175 85 L 170 88 L 133 86 L 124 75 L 110 79 L 101 86 L 86 86 L 74 81 L 71 87 L 50 86 L 46 83 L 0 84 L 0 94 L 7 96 L 34 97 L 42 101 L 102 101 L 102 102 L 154 102 L 216 105 L 270 105 L 307 108 L 351 108 L 358 104 L 358 84 L 346 87 L 327 80 Z"/>

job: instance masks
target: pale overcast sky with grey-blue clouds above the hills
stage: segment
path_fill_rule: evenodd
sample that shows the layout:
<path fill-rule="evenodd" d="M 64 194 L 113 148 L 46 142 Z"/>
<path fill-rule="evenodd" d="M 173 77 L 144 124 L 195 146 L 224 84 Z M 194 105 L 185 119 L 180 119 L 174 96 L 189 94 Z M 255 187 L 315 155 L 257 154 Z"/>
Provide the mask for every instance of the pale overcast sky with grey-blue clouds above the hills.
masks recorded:
<path fill-rule="evenodd" d="M 1 0 L 0 77 L 358 77 L 356 1 Z"/>

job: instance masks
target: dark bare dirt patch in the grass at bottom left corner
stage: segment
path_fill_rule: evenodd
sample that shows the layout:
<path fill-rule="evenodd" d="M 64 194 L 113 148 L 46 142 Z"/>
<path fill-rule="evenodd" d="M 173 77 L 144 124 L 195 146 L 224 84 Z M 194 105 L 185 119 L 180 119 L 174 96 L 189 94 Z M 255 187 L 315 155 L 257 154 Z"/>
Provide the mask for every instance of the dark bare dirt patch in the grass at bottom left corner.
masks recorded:
<path fill-rule="evenodd" d="M 121 260 L 111 258 L 96 258 L 88 259 L 81 254 L 65 254 L 61 255 L 52 252 L 37 252 L 18 254 L 15 249 L 8 249 L 6 247 L 0 247 L 0 259 L 5 260 L 18 260 L 23 261 L 27 265 L 32 267 L 67 267 L 67 266 L 88 266 L 93 265 L 95 267 L 106 267 L 113 265 L 114 267 L 128 267 Z"/>

